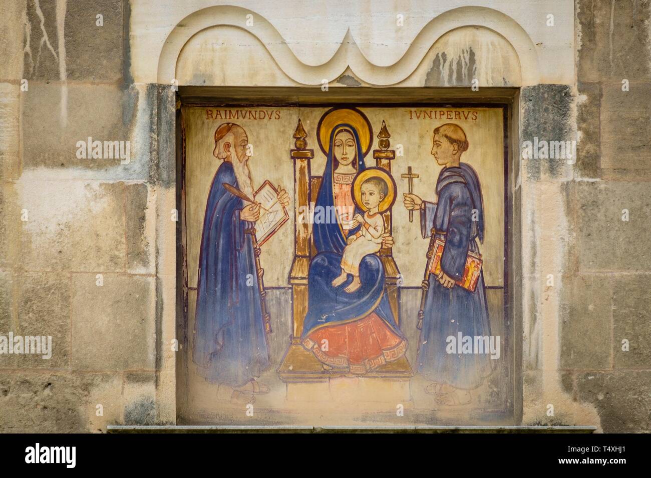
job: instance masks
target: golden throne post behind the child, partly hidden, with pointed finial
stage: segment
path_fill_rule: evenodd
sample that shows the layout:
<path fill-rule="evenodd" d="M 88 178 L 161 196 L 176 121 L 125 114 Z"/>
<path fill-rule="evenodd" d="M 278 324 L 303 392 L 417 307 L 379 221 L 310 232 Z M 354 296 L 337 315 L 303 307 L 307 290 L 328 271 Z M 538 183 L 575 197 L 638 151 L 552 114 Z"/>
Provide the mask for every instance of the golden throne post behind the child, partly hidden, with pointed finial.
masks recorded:
<path fill-rule="evenodd" d="M 387 125 L 382 120 L 382 127 L 378 133 L 378 148 L 373 150 L 373 158 L 376 161 L 376 166 L 382 168 L 391 175 L 391 161 L 396 159 L 396 151 L 390 150 L 391 142 L 389 141 L 391 135 L 387 129 Z M 391 223 L 391 211 L 387 211 L 383 214 L 385 232 L 393 234 L 393 226 Z M 380 259 L 384 265 L 385 271 L 385 283 L 387 285 L 387 296 L 389 297 L 389 304 L 391 305 L 391 311 L 393 316 L 396 318 L 396 323 L 400 325 L 400 297 L 398 287 L 402 285 L 402 278 L 400 276 L 400 271 L 398 271 L 398 265 L 393 259 L 393 251 L 391 247 L 383 247 L 380 249 Z"/>

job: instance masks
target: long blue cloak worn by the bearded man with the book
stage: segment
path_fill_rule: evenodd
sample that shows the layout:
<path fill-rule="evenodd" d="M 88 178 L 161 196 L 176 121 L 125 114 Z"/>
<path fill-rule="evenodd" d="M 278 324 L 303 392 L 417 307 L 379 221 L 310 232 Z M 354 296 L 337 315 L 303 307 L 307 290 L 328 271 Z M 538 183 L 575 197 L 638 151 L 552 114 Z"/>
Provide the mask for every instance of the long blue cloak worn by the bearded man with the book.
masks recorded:
<path fill-rule="evenodd" d="M 222 163 L 210 186 L 199 253 L 193 359 L 209 382 L 242 386 L 270 365 L 251 235 L 233 165 Z"/>

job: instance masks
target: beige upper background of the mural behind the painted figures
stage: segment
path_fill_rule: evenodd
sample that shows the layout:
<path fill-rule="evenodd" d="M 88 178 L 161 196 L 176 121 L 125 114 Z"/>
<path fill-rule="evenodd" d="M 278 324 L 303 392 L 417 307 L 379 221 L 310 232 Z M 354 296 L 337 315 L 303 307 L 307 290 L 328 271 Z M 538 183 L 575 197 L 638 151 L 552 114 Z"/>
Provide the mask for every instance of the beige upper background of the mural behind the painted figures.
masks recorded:
<path fill-rule="evenodd" d="M 248 111 L 248 108 L 221 107 Z M 264 110 L 273 113 L 271 119 L 264 114 L 263 120 L 230 120 L 240 124 L 247 131 L 249 142 L 253 145 L 253 157 L 250 165 L 256 187 L 269 179 L 274 185 L 283 185 L 294 200 L 294 165 L 289 157 L 289 150 L 294 146 L 292 134 L 298 118 L 303 121 L 307 131 L 308 147 L 314 148 L 312 174 L 322 174 L 326 157 L 316 142 L 316 126 L 319 118 L 327 111 L 326 107 L 258 107 L 251 110 Z M 430 155 L 432 149 L 432 130 L 445 122 L 455 122 L 462 126 L 469 140 L 469 149 L 462 160 L 472 165 L 479 175 L 484 195 L 486 210 L 486 237 L 480 245 L 484 254 L 484 278 L 486 285 L 503 285 L 504 270 L 504 155 L 503 155 L 503 111 L 499 108 L 360 108 L 373 127 L 373 148 L 377 148 L 376 135 L 382 120 L 387 122 L 391 133 L 391 148 L 402 144 L 404 156 L 396 157 L 392 163 L 392 174 L 398 185 L 400 195 L 393 207 L 393 235 L 395 246 L 393 256 L 403 275 L 405 286 L 420 285 L 424 267 L 424 257 L 428 241 L 421 238 L 418 215 L 409 222 L 408 213 L 402 206 L 402 193 L 407 192 L 406 179 L 400 174 L 412 166 L 413 172 L 420 175 L 414 181 L 414 193 L 425 200 L 436 200 L 436 179 L 441 166 Z M 436 120 L 421 111 L 476 111 L 477 120 Z M 411 119 L 409 118 L 411 113 Z M 420 119 L 417 119 L 417 114 Z M 206 199 L 215 171 L 219 166 L 213 155 L 215 129 L 223 121 L 206 119 L 206 108 L 189 107 L 186 109 L 186 198 L 187 198 L 187 261 L 189 287 L 197 285 L 197 261 L 201 243 L 202 223 Z M 241 113 L 240 113 L 241 115 Z M 454 115 L 453 115 L 454 117 Z M 372 152 L 366 157 L 367 166 L 374 166 Z M 265 270 L 264 281 L 268 287 L 286 286 L 287 278 L 294 256 L 294 215 L 290 211 L 290 220 L 262 247 L 262 267 Z"/>

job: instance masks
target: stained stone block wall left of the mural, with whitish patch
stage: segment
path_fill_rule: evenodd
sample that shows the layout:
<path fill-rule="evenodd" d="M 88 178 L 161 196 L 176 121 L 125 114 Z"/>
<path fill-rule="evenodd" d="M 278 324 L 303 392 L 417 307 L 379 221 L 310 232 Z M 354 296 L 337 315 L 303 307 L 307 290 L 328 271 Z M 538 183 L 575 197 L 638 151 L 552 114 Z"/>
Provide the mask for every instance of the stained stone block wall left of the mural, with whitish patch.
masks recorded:
<path fill-rule="evenodd" d="M 3 10 L 0 330 L 51 336 L 53 351 L 0 354 L 0 431 L 173 423 L 161 295 L 175 265 L 158 251 L 161 228 L 174 248 L 175 223 L 156 211 L 174 208 L 159 154 L 172 142 L 173 161 L 174 92 L 133 83 L 128 2 Z M 88 137 L 130 140 L 130 162 L 78 159 Z"/>

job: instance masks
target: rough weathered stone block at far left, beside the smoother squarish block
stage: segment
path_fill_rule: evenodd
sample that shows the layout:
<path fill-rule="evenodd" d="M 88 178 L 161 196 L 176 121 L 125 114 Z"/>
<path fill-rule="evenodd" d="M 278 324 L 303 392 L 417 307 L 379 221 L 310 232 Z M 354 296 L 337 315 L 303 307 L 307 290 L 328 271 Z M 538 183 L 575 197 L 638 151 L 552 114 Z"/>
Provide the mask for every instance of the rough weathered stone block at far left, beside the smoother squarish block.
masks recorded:
<path fill-rule="evenodd" d="M 21 368 L 67 368 L 70 365 L 70 275 L 27 272 L 16 278 L 18 328 L 14 335 L 51 337 L 51 358 L 19 355 Z"/>

